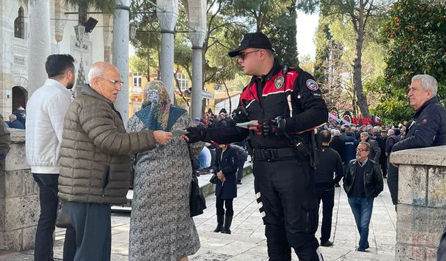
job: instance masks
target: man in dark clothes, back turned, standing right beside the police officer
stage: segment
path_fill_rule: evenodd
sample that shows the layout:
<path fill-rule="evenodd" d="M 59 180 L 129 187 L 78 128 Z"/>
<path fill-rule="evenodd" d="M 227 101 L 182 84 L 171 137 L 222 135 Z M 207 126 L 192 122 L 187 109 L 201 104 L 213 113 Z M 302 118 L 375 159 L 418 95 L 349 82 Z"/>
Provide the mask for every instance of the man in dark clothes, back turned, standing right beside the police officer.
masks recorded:
<path fill-rule="evenodd" d="M 319 161 L 314 169 L 314 189 L 318 203 L 322 200 L 322 228 L 321 246 L 332 246 L 330 233 L 332 230 L 332 214 L 334 206 L 334 184 L 337 184 L 342 176 L 342 162 L 339 154 L 329 147 L 332 141 L 330 132 L 323 130 L 319 134 L 322 148 L 319 150 Z M 333 180 L 333 173 L 336 177 Z"/>

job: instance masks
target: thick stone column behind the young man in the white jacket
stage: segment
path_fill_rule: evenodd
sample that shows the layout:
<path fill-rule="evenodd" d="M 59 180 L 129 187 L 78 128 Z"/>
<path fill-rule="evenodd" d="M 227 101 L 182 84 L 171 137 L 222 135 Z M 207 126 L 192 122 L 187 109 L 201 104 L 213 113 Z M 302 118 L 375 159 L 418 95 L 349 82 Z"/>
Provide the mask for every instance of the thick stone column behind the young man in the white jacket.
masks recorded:
<path fill-rule="evenodd" d="M 49 0 L 29 2 L 28 93 L 42 86 L 47 79 L 45 61 L 51 54 L 49 36 Z"/>

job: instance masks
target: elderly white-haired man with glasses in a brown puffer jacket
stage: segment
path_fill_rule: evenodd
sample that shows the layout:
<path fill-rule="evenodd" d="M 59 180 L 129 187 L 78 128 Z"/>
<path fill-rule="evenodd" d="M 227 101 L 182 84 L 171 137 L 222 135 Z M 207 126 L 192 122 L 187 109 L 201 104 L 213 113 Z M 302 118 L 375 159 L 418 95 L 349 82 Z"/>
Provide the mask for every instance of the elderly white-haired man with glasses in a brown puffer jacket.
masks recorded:
<path fill-rule="evenodd" d="M 110 260 L 110 205 L 127 202 L 130 154 L 165 145 L 171 133 L 126 133 L 113 102 L 121 90 L 119 72 L 98 62 L 90 85 L 68 107 L 63 122 L 59 198 L 67 201 L 76 232 L 75 260 Z"/>

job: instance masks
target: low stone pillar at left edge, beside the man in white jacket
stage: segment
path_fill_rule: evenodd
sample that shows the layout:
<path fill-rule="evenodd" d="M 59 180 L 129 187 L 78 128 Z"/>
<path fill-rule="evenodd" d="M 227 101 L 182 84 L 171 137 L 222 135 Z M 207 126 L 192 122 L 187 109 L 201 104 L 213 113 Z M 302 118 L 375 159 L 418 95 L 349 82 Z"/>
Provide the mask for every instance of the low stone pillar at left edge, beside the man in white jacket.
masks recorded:
<path fill-rule="evenodd" d="M 39 188 L 26 162 L 24 130 L 10 132 L 5 171 L 0 171 L 0 251 L 24 251 L 34 248 Z"/>

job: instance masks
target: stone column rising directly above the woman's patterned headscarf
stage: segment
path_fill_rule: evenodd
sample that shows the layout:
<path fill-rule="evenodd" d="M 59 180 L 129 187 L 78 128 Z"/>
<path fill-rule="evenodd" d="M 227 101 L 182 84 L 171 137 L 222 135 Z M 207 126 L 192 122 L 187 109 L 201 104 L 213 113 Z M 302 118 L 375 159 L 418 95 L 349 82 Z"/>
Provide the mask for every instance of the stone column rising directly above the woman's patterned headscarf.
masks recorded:
<path fill-rule="evenodd" d="M 165 10 L 156 12 L 161 27 L 161 81 L 167 86 L 171 104 L 174 104 L 174 29 L 178 20 L 178 0 L 158 0 L 157 5 Z"/>

